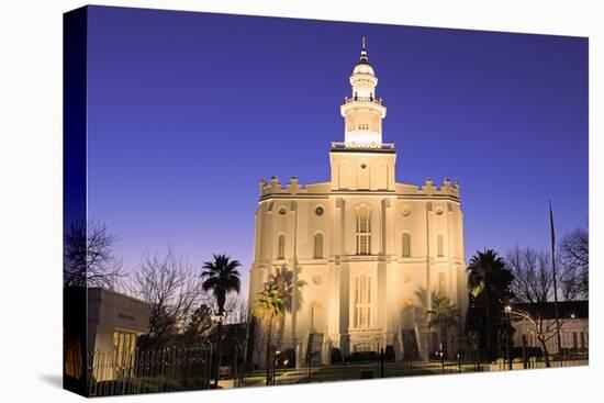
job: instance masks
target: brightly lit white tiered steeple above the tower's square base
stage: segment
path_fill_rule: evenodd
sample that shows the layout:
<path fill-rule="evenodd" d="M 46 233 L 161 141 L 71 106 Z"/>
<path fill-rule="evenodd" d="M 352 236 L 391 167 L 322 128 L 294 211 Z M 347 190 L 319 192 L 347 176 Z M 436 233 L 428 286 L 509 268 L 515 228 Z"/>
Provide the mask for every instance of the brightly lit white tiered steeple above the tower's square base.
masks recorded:
<path fill-rule="evenodd" d="M 378 77 L 369 63 L 365 36 L 360 59 L 349 78 L 353 89 L 351 98 L 346 97 L 340 107 L 345 122 L 344 143 L 347 147 L 379 147 L 382 144 L 382 119 L 385 107 L 376 96 Z"/>

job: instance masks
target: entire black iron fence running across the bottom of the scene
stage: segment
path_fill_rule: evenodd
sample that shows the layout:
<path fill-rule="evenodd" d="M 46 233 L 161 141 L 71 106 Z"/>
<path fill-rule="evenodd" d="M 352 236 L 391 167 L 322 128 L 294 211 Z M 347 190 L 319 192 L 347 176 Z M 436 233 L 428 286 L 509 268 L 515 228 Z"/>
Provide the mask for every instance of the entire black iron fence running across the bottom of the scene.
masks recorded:
<path fill-rule="evenodd" d="M 471 351 L 469 351 L 471 352 Z M 313 365 L 292 368 L 289 359 L 275 360 L 269 371 L 269 384 L 292 384 L 361 380 L 374 378 L 400 378 L 430 374 L 450 374 L 462 372 L 504 371 L 510 369 L 545 368 L 544 357 L 513 357 L 512 367 L 507 357 L 490 362 L 480 362 L 473 358 L 478 355 L 459 355 L 452 359 L 432 357 L 429 360 L 384 359 L 379 355 L 377 360 L 343 361 L 329 366 Z M 119 394 L 171 392 L 209 389 L 213 381 L 213 346 L 204 343 L 188 348 L 165 348 L 160 350 L 97 351 L 92 355 L 89 367 L 89 395 L 105 396 Z M 224 388 L 241 388 L 266 384 L 267 371 L 264 369 L 244 371 L 243 362 L 234 358 L 233 368 L 223 371 L 221 380 Z M 586 365 L 586 352 L 550 356 L 550 367 L 571 367 Z M 290 363 L 288 366 L 288 363 Z M 221 381 L 221 382 L 222 382 Z"/>

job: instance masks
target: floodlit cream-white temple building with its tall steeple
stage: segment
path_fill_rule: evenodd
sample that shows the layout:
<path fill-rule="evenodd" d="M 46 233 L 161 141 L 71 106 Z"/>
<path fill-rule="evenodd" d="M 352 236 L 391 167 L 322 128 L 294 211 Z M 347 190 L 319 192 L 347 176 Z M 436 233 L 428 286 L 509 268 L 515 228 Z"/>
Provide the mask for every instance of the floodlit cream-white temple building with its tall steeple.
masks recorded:
<path fill-rule="evenodd" d="M 365 40 L 349 81 L 331 179 L 260 181 L 250 305 L 271 276 L 291 271 L 291 310 L 273 337 L 277 348 L 297 351 L 298 365 L 328 363 L 335 348 L 345 357 L 384 348 L 398 360 L 427 359 L 447 348 L 427 326 L 433 299 L 448 296 L 461 320 L 468 305 L 459 186 L 396 181 L 396 150 L 382 141 L 387 108 Z M 260 366 L 262 348 L 254 356 Z"/>

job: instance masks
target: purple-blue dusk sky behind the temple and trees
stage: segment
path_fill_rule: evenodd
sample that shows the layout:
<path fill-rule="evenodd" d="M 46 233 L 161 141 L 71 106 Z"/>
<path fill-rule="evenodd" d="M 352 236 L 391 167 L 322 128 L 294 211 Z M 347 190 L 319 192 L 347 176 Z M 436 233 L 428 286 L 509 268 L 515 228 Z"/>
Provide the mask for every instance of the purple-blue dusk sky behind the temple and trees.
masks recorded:
<path fill-rule="evenodd" d="M 88 216 L 135 270 L 253 260 L 259 180 L 329 180 L 367 37 L 396 181 L 460 182 L 466 257 L 588 225 L 588 40 L 91 7 Z"/>

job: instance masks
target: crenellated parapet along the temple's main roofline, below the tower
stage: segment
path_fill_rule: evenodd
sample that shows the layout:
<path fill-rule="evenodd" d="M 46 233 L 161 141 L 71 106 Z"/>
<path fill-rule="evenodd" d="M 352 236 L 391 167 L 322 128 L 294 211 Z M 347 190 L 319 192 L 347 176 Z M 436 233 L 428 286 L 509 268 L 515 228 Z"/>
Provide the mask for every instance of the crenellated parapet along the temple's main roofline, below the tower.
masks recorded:
<path fill-rule="evenodd" d="M 327 195 L 346 192 L 345 190 L 332 190 L 332 182 L 300 183 L 298 177 L 291 177 L 290 181 L 282 186 L 278 177 L 271 177 L 270 181 L 260 180 L 260 199 L 272 195 Z M 351 192 L 363 192 L 362 190 L 351 190 Z M 459 200 L 459 183 L 445 179 L 440 187 L 434 184 L 430 178 L 426 178 L 422 186 L 410 183 L 395 183 L 395 190 L 374 191 L 367 190 L 368 193 L 383 194 L 392 193 L 396 195 L 409 197 L 445 197 Z"/>

